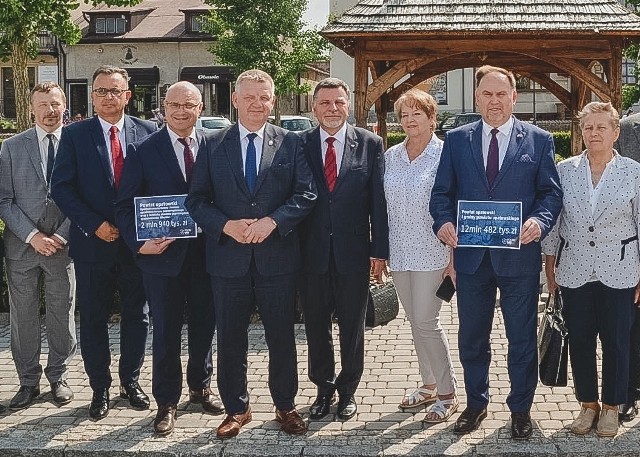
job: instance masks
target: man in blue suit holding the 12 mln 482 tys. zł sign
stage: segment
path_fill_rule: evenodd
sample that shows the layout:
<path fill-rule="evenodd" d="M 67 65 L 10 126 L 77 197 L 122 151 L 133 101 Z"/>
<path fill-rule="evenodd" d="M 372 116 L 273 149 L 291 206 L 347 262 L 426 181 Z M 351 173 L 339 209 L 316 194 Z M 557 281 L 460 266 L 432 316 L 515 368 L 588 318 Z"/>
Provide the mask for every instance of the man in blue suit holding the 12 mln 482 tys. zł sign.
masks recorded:
<path fill-rule="evenodd" d="M 483 66 L 476 72 L 476 84 L 482 120 L 447 133 L 429 208 L 434 232 L 455 248 L 458 345 L 467 408 L 453 431 L 469 433 L 487 415 L 490 335 L 499 289 L 509 341 L 511 436 L 528 439 L 529 410 L 538 382 L 539 241 L 560 213 L 562 190 L 551 134 L 512 116 L 517 97 L 513 74 Z M 458 248 L 459 200 L 522 202 L 520 248 Z"/>

